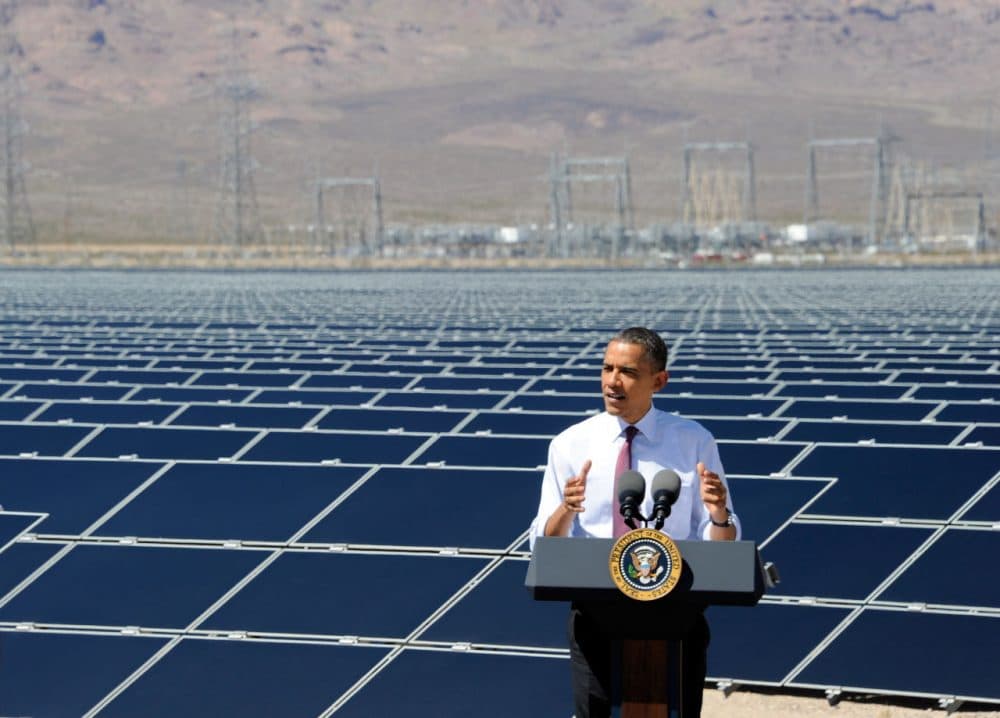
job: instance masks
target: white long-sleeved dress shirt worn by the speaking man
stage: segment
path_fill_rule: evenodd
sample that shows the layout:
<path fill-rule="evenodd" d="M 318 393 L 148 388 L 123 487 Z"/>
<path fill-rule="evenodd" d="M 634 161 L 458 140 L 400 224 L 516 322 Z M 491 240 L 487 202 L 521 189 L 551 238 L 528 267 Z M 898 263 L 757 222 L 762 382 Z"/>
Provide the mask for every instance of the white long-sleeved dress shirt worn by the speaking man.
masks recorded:
<path fill-rule="evenodd" d="M 628 423 L 607 412 L 584 419 L 556 436 L 549 444 L 549 459 L 542 478 L 542 494 L 538 513 L 531 524 L 530 543 L 545 535 L 545 523 L 563 501 L 563 486 L 580 473 L 588 459 L 592 462 L 587 474 L 584 511 L 576 514 L 570 536 L 611 538 L 614 501 L 614 473 L 618 452 L 625 443 Z M 712 524 L 708 508 L 701 500 L 700 480 L 696 466 L 702 462 L 714 471 L 726 485 L 726 503 L 733 511 L 729 485 L 719 459 L 715 439 L 696 421 L 682 419 L 652 407 L 635 424 L 639 432 L 632 440 L 632 468 L 646 479 L 646 496 L 640 511 L 649 516 L 653 511 L 650 484 L 656 472 L 672 469 L 681 479 L 677 503 L 663 525 L 663 532 L 682 541 L 710 538 Z M 735 512 L 736 538 L 740 538 L 740 523 Z M 652 525 L 650 525 L 652 528 Z"/>

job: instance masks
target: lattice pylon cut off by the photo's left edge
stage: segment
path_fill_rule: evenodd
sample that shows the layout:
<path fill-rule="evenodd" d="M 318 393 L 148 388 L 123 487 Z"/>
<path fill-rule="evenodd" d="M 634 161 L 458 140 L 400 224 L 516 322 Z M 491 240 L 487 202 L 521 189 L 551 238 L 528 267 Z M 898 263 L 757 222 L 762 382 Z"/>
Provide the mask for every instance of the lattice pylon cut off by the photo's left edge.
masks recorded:
<path fill-rule="evenodd" d="M 14 66 L 15 58 L 21 53 L 10 25 L 13 21 L 14 4 L 0 6 L 0 22 L 3 23 L 3 38 L 0 51 L 0 102 L 3 112 L 3 243 L 8 251 L 33 248 L 35 245 L 35 225 L 31 218 L 31 205 L 25 186 L 27 165 L 23 161 L 22 138 L 27 125 L 21 119 L 21 86 Z"/>

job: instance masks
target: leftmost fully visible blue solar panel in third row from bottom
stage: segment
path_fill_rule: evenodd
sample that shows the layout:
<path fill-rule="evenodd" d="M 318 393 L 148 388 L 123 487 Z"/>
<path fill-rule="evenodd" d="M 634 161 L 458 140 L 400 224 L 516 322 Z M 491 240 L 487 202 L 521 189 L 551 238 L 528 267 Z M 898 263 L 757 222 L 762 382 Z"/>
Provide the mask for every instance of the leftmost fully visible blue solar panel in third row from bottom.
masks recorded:
<path fill-rule="evenodd" d="M 338 466 L 176 464 L 96 533 L 287 541 L 363 473 Z"/>

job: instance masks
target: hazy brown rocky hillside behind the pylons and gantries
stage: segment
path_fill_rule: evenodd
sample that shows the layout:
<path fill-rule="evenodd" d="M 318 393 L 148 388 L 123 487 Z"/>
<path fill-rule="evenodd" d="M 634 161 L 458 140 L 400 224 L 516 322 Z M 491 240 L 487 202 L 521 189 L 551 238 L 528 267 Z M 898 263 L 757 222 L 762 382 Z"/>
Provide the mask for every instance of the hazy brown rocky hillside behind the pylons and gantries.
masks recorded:
<path fill-rule="evenodd" d="M 751 138 L 780 213 L 810 132 L 881 117 L 910 156 L 981 162 L 1000 67 L 986 0 L 21 0 L 7 27 L 54 222 L 184 183 L 207 217 L 234 58 L 275 221 L 308 214 L 310 176 L 375 166 L 400 219 L 539 218 L 555 150 L 627 150 L 640 208 L 669 214 L 685 137 Z"/>

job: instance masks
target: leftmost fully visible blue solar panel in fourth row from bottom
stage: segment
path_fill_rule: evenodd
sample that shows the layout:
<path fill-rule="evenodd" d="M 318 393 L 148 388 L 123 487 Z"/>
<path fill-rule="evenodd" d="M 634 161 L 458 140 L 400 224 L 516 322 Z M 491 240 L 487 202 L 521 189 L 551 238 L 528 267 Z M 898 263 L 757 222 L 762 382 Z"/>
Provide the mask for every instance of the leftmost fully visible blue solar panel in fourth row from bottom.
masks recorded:
<path fill-rule="evenodd" d="M 218 459 L 230 457 L 256 437 L 234 429 L 170 429 L 107 427 L 87 442 L 77 456 L 142 459 Z"/>

